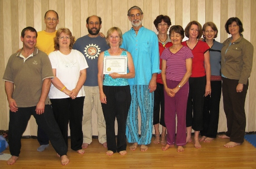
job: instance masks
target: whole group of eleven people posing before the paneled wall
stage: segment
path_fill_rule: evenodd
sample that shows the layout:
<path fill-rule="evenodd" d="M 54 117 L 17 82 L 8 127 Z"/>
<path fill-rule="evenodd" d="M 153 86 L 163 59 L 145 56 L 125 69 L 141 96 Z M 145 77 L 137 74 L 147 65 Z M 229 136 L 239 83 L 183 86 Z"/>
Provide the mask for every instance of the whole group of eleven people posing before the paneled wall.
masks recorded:
<path fill-rule="evenodd" d="M 133 143 L 130 150 L 140 145 L 140 151 L 146 151 L 153 125 L 154 143 L 164 145 L 164 151 L 174 144 L 178 152 L 184 151 L 183 146 L 192 142 L 192 129 L 194 146 L 200 148 L 199 141 L 211 142 L 217 136 L 221 89 L 227 132 L 220 137 L 230 138 L 227 147 L 243 142 L 253 46 L 242 37 L 241 21 L 228 19 L 225 28 L 232 37 L 222 47 L 214 40 L 218 31 L 212 22 L 202 28 L 192 21 L 184 30 L 170 27 L 170 18 L 159 15 L 154 21 L 156 35 L 142 26 L 144 15 L 138 6 L 131 7 L 127 16 L 131 29 L 122 34 L 120 28 L 111 27 L 106 38 L 100 36 L 101 18 L 95 15 L 86 20 L 88 35 L 76 41 L 68 28 L 56 30 L 58 14 L 53 10 L 44 16 L 45 31 L 24 28 L 23 48 L 10 57 L 3 77 L 10 106 L 8 164 L 19 158 L 20 137 L 31 115 L 39 126 L 38 151 L 50 140 L 61 163 L 68 164 L 69 123 L 71 149 L 84 154 L 82 148 L 92 142 L 93 107 L 99 142 L 107 147 L 107 155 L 116 151 L 125 155 L 126 139 Z M 188 40 L 182 42 L 184 36 Z M 104 58 L 120 56 L 127 60 L 127 73 L 104 73 Z"/>

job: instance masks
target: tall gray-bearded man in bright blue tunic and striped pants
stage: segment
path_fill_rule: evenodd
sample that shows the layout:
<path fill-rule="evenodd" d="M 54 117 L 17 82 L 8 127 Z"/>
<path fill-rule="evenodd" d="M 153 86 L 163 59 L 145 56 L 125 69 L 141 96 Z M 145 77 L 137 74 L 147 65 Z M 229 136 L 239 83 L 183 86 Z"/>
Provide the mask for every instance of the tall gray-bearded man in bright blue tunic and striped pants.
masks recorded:
<path fill-rule="evenodd" d="M 130 150 L 141 145 L 140 151 L 146 151 L 146 145 L 150 144 L 152 137 L 156 75 L 161 73 L 158 40 L 155 32 L 142 26 L 143 12 L 138 6 L 131 7 L 127 16 L 132 27 L 124 33 L 121 48 L 131 53 L 136 73 L 135 78 L 128 79 L 132 99 L 126 122 L 126 137 L 128 142 L 133 143 Z M 138 107 L 141 116 L 140 137 Z"/>

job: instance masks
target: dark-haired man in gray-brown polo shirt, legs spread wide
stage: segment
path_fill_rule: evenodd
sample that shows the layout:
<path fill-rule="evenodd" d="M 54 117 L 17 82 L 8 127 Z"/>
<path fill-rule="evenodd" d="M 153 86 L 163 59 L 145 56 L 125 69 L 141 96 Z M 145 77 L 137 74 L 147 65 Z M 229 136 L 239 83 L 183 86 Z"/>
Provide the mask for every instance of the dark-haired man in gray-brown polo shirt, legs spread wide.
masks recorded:
<path fill-rule="evenodd" d="M 10 107 L 8 137 L 12 156 L 7 164 L 12 165 L 19 158 L 20 139 L 33 115 L 39 127 L 48 133 L 61 163 L 67 165 L 68 148 L 54 119 L 48 97 L 53 78 L 51 62 L 44 52 L 35 48 L 37 32 L 33 27 L 24 28 L 20 38 L 23 48 L 10 56 L 3 77 Z"/>

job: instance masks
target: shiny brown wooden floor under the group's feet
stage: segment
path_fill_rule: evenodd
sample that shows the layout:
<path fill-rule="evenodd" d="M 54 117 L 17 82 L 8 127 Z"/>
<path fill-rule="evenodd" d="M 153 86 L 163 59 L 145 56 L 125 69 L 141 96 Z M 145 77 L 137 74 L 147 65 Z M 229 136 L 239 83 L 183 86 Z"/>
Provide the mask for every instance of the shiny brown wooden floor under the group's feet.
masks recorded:
<path fill-rule="evenodd" d="M 0 160 L 0 169 L 256 169 L 256 148 L 249 142 L 241 146 L 226 148 L 223 145 L 228 139 L 217 138 L 211 143 L 202 142 L 202 148 L 196 149 L 193 143 L 184 146 L 185 151 L 178 153 L 177 147 L 161 150 L 161 145 L 152 143 L 148 151 L 140 149 L 130 151 L 128 144 L 127 154 L 124 156 L 115 153 L 112 156 L 105 154 L 104 148 L 97 139 L 85 149 L 84 155 L 68 148 L 70 163 L 67 166 L 60 164 L 52 146 L 43 152 L 36 151 L 39 143 L 36 139 L 22 139 L 22 148 L 19 159 L 14 165 L 7 165 Z M 70 142 L 70 139 L 69 139 Z M 138 147 L 139 148 L 139 147 Z M 9 149 L 3 153 L 10 153 Z"/>

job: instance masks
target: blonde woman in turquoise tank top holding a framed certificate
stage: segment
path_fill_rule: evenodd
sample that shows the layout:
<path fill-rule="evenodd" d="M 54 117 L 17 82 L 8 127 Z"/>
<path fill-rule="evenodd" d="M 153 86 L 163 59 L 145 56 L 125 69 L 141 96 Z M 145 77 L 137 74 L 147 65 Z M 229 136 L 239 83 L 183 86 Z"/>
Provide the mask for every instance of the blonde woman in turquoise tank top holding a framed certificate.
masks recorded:
<path fill-rule="evenodd" d="M 106 155 L 113 155 L 116 151 L 120 155 L 126 154 L 126 119 L 130 107 L 131 95 L 130 86 L 127 78 L 135 77 L 135 69 L 132 57 L 129 52 L 122 51 L 119 46 L 122 44 L 122 32 L 118 27 L 111 27 L 107 31 L 106 42 L 110 49 L 101 52 L 98 59 L 98 85 L 100 91 L 101 106 L 106 121 Z M 117 57 L 119 57 L 117 59 Z M 122 60 L 127 67 L 127 71 L 113 71 L 115 66 L 106 66 L 104 64 L 109 60 L 116 60 L 117 66 L 120 66 Z M 118 123 L 117 144 L 115 134 L 115 120 Z"/>

